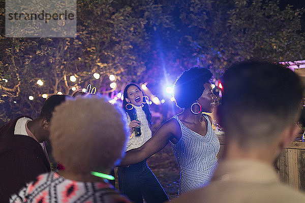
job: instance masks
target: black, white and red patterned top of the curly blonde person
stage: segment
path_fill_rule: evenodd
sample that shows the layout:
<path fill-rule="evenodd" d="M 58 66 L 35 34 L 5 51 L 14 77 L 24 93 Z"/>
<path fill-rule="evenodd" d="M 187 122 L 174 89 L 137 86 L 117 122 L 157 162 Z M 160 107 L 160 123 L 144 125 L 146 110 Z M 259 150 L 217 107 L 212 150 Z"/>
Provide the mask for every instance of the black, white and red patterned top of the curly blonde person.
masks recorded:
<path fill-rule="evenodd" d="M 55 172 L 42 174 L 18 194 L 11 203 L 129 203 L 109 183 L 78 182 L 65 179 Z"/>

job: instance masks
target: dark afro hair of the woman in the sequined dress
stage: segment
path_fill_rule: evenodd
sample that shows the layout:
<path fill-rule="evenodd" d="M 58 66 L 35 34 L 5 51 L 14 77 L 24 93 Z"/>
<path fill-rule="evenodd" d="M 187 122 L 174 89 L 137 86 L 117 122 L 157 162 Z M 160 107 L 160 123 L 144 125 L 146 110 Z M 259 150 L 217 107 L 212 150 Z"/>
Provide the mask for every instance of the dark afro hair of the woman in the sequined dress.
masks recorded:
<path fill-rule="evenodd" d="M 210 89 L 206 92 L 204 90 L 210 85 L 211 77 L 211 72 L 202 67 L 192 67 L 184 71 L 174 83 L 176 105 L 179 108 L 189 108 L 203 93 L 210 92 Z"/>

